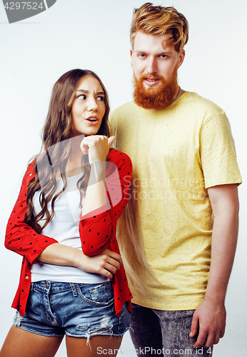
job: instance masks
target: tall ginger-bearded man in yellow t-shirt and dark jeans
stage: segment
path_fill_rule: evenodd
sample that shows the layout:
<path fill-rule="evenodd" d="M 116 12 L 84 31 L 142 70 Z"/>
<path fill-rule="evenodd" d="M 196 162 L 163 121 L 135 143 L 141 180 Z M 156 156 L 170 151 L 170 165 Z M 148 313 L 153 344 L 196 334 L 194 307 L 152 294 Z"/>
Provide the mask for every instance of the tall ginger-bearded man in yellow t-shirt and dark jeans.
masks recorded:
<path fill-rule="evenodd" d="M 212 356 L 226 325 L 241 174 L 224 111 L 178 86 L 187 41 L 176 9 L 135 9 L 134 101 L 111 115 L 116 149 L 133 163 L 118 240 L 140 356 Z"/>

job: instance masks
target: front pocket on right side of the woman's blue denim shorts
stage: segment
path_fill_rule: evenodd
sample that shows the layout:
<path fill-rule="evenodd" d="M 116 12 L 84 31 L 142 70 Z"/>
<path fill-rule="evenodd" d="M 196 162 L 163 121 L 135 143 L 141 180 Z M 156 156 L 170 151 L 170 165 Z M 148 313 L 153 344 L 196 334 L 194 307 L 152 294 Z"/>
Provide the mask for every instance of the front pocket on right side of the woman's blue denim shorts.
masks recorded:
<path fill-rule="evenodd" d="M 101 284 L 85 284 L 84 286 L 80 286 L 79 296 L 84 301 L 97 306 L 108 306 L 114 303 L 114 290 L 110 281 Z"/>

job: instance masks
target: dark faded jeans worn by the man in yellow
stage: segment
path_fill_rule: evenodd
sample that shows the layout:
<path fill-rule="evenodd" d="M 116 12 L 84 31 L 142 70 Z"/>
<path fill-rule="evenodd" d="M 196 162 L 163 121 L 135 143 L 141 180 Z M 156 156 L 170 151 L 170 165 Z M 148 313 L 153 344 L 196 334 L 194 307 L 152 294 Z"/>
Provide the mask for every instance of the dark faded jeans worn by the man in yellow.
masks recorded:
<path fill-rule="evenodd" d="M 194 349 L 197 336 L 188 336 L 194 311 L 161 311 L 132 303 L 130 333 L 137 356 L 211 357 L 213 348 Z"/>

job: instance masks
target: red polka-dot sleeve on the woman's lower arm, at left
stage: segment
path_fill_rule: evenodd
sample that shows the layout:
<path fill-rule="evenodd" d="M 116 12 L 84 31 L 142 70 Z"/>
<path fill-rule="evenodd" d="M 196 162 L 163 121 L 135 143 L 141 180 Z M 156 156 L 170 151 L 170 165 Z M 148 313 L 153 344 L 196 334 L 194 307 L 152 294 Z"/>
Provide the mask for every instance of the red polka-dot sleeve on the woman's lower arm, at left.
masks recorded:
<path fill-rule="evenodd" d="M 36 233 L 25 223 L 26 193 L 32 178 L 34 178 L 34 162 L 29 164 L 22 180 L 19 196 L 7 223 L 5 236 L 6 248 L 26 257 L 31 264 L 37 263 L 36 258 L 47 246 L 57 243 L 54 238 Z"/>

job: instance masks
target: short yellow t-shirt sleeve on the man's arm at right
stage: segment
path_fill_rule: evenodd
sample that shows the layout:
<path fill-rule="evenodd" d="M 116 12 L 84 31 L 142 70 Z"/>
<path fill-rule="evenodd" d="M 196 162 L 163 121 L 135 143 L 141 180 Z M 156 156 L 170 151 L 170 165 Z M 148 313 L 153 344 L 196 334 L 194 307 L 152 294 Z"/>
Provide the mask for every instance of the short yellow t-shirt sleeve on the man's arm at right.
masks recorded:
<path fill-rule="evenodd" d="M 205 187 L 242 182 L 231 126 L 224 112 L 201 126 L 200 158 Z"/>

